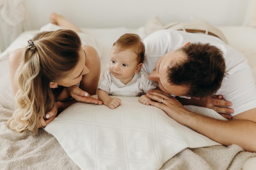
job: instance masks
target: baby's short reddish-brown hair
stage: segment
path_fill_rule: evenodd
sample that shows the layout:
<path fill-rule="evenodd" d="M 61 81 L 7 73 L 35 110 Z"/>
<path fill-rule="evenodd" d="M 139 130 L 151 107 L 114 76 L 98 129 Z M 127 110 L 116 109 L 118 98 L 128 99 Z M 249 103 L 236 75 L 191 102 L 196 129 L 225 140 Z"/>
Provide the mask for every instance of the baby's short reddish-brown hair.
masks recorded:
<path fill-rule="evenodd" d="M 126 33 L 114 42 L 113 49 L 115 53 L 126 49 L 131 49 L 138 56 L 138 63 L 144 62 L 145 46 L 137 34 Z"/>

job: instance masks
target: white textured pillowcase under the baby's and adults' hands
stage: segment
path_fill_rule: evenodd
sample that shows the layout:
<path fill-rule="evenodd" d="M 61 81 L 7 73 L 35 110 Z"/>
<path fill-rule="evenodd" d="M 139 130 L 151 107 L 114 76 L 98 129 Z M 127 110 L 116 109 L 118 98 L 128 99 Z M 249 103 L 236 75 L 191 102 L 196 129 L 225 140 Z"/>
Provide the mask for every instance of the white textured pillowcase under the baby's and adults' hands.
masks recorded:
<path fill-rule="evenodd" d="M 178 124 L 164 111 L 119 97 L 121 105 L 76 103 L 50 122 L 45 130 L 84 170 L 158 170 L 184 148 L 219 145 Z M 222 118 L 213 110 L 188 106 L 197 113 Z"/>

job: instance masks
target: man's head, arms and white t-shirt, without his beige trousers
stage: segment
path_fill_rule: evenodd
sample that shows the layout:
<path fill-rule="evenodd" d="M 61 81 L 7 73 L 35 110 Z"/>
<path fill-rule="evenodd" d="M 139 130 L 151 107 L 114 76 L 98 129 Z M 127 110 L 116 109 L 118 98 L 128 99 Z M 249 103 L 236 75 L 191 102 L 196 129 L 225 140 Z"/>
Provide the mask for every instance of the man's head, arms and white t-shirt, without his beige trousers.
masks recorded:
<path fill-rule="evenodd" d="M 244 150 L 256 152 L 256 86 L 247 60 L 240 52 L 214 36 L 176 30 L 157 31 L 145 38 L 144 44 L 146 60 L 143 69 L 149 74 L 149 79 L 157 82 L 164 92 L 148 92 L 147 97 L 158 101 L 151 101 L 151 105 L 164 110 L 180 124 L 220 144 L 237 144 Z M 211 49 L 216 47 L 223 53 L 225 72 L 221 68 L 221 62 L 224 62 L 221 57 L 215 54 L 211 56 Z M 193 55 L 200 55 L 201 59 L 190 60 Z M 213 60 L 214 56 L 218 60 Z M 220 79 L 222 82 L 218 84 Z M 175 99 L 168 94 L 186 97 Z M 211 97 L 213 95 L 216 98 Z M 182 104 L 205 106 L 218 113 L 230 113 L 233 118 L 220 121 L 192 113 L 178 100 Z M 225 117 L 231 119 L 230 115 Z"/>

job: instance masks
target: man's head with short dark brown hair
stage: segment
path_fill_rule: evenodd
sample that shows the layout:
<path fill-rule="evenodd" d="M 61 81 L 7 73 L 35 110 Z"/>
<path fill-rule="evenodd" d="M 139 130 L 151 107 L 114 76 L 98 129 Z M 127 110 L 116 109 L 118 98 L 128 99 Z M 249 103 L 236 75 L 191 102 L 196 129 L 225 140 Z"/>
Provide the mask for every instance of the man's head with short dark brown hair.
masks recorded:
<path fill-rule="evenodd" d="M 216 93 L 224 75 L 225 59 L 220 49 L 187 43 L 160 57 L 149 78 L 166 93 L 201 98 Z"/>

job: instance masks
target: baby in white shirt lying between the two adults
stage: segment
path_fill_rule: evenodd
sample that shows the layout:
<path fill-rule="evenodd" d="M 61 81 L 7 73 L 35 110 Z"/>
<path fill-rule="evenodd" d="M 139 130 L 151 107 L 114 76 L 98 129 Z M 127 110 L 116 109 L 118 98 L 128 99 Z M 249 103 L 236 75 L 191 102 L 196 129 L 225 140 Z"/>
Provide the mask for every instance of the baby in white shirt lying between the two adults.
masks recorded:
<path fill-rule="evenodd" d="M 157 84 L 148 79 L 141 70 L 144 62 L 145 46 L 137 34 L 126 33 L 112 46 L 109 70 L 99 81 L 98 98 L 109 108 L 117 108 L 121 100 L 113 96 L 140 96 L 142 104 L 148 104 L 146 91 L 155 89 Z"/>

